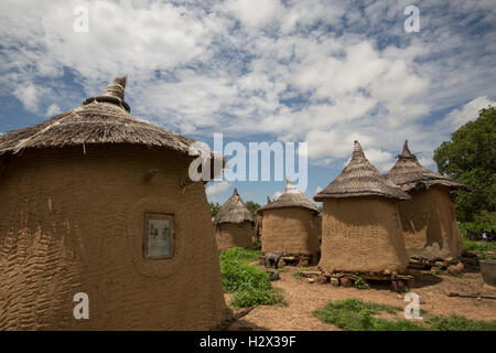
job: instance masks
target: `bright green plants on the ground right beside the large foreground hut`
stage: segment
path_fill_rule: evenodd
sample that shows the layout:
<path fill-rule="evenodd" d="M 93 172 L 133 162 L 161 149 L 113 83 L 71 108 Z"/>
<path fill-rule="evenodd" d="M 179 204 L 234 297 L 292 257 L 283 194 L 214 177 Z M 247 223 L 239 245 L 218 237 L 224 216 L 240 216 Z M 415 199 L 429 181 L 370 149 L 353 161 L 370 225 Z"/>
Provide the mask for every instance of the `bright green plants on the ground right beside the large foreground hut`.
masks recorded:
<path fill-rule="evenodd" d="M 244 248 L 230 248 L 223 252 L 220 275 L 224 291 L 233 293 L 233 307 L 246 308 L 284 303 L 281 290 L 272 288 L 269 274 L 248 265 L 258 259 L 260 252 Z"/>

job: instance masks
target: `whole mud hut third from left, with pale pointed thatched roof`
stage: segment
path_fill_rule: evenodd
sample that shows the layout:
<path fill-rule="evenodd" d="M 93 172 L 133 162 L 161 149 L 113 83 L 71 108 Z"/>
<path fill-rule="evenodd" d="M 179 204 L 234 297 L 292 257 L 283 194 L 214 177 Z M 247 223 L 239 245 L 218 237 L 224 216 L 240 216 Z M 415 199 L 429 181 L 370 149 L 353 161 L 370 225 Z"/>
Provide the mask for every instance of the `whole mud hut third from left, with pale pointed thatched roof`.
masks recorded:
<path fill-rule="evenodd" d="M 284 192 L 257 211 L 262 216 L 261 250 L 263 254 L 303 255 L 319 254 L 319 210 L 290 180 Z"/>

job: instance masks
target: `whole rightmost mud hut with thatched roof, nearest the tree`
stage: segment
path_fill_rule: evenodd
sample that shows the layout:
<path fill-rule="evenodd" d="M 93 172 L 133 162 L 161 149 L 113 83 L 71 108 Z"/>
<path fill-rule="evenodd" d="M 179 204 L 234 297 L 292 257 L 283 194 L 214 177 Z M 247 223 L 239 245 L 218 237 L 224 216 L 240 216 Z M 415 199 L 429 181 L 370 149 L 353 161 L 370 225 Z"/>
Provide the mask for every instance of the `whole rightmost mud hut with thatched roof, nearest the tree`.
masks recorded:
<path fill-rule="evenodd" d="M 467 186 L 421 165 L 405 141 L 403 150 L 386 178 L 409 193 L 399 204 L 401 229 L 410 257 L 456 259 L 463 249 L 455 210 L 450 197 Z"/>

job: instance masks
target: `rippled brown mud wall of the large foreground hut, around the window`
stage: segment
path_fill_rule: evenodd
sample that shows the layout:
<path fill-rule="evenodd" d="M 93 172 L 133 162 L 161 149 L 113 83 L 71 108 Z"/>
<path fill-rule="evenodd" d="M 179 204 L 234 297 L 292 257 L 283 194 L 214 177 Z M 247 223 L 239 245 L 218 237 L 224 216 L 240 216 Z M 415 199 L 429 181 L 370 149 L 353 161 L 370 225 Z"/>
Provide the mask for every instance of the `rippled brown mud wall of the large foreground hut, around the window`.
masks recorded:
<path fill-rule="evenodd" d="M 202 183 L 172 152 L 25 151 L 0 180 L 0 330 L 204 330 L 226 314 Z M 150 169 L 159 172 L 149 181 Z M 171 259 L 143 259 L 144 213 L 175 216 Z M 89 320 L 73 297 L 89 296 Z"/>

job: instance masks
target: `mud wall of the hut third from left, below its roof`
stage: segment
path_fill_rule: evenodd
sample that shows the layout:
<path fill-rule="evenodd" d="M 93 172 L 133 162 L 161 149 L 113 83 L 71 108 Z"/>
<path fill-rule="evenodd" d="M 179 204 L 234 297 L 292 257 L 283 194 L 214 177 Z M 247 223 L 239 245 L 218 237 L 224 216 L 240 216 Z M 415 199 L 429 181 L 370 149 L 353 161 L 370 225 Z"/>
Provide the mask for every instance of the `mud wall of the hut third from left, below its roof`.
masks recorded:
<path fill-rule="evenodd" d="M 265 211 L 261 236 L 262 253 L 317 255 L 319 227 L 316 223 L 314 214 L 302 207 Z"/>

